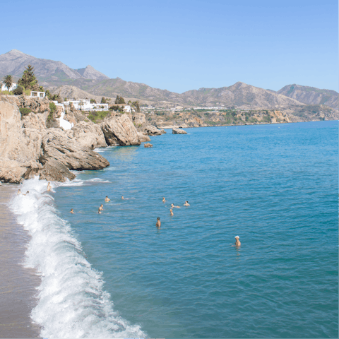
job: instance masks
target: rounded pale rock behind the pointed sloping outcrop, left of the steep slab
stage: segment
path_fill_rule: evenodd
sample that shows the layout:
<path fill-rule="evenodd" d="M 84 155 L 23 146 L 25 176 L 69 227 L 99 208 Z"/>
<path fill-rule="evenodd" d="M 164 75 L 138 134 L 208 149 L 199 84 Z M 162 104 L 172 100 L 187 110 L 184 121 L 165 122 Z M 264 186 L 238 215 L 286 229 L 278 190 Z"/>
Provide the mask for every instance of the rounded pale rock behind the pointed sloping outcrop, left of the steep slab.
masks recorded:
<path fill-rule="evenodd" d="M 93 148 L 107 147 L 105 136 L 100 126 L 94 124 L 92 121 L 80 121 L 74 125 L 71 130 L 73 131 L 73 137 L 76 138 L 81 145 L 85 145 L 92 150 Z"/>

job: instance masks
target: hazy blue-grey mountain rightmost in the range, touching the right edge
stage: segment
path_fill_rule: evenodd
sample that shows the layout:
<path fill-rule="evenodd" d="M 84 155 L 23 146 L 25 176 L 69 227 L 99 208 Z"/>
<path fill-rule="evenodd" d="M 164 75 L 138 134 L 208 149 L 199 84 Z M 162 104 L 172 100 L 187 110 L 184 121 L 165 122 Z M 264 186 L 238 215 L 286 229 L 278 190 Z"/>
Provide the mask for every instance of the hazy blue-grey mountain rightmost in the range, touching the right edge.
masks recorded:
<path fill-rule="evenodd" d="M 338 109 L 338 93 L 335 90 L 319 90 L 319 88 L 296 85 L 287 85 L 278 94 L 292 97 L 307 105 L 326 105 Z"/>

